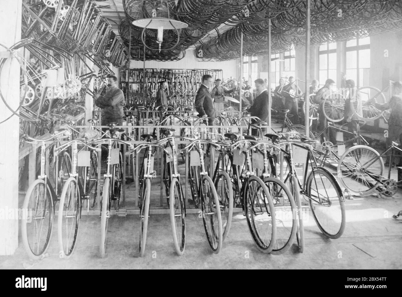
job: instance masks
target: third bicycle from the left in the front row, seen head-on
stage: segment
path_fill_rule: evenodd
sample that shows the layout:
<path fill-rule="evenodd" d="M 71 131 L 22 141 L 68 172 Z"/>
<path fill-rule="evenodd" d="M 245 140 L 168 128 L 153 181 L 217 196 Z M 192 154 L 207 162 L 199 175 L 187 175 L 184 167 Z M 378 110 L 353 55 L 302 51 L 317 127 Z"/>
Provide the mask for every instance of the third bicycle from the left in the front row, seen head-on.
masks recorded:
<path fill-rule="evenodd" d="M 121 180 L 115 173 L 117 165 L 121 162 L 120 148 L 113 148 L 115 143 L 121 143 L 129 146 L 132 149 L 134 146 L 124 140 L 116 138 L 103 138 L 94 140 L 91 145 L 99 146 L 102 144 L 108 144 L 108 157 L 107 157 L 107 170 L 103 175 L 103 187 L 102 196 L 100 200 L 100 245 L 99 255 L 100 258 L 105 257 L 106 252 L 106 235 L 107 235 L 107 223 L 110 217 L 110 205 L 112 198 L 115 197 L 115 190 L 119 188 Z M 112 166 L 112 172 L 111 172 Z"/>

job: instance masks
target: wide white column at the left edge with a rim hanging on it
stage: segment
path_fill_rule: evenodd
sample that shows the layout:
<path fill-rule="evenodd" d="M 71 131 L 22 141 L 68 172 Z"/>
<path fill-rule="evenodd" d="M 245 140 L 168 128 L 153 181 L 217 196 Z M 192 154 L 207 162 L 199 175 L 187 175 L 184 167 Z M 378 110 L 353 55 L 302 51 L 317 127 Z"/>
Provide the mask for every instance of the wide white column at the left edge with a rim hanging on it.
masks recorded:
<path fill-rule="evenodd" d="M 0 42 L 7 47 L 21 40 L 22 0 L 2 1 L 0 5 Z M 0 51 L 5 49 L 0 47 Z M 20 52 L 23 53 L 22 51 Z M 0 88 L 6 102 L 14 110 L 19 105 L 20 64 L 7 59 L 0 77 Z M 0 100 L 0 121 L 12 112 Z M 13 116 L 0 124 L 0 255 L 12 255 L 18 247 L 18 146 L 19 118 Z M 22 205 L 21 205 L 22 206 Z M 17 213 L 18 214 L 18 213 Z"/>

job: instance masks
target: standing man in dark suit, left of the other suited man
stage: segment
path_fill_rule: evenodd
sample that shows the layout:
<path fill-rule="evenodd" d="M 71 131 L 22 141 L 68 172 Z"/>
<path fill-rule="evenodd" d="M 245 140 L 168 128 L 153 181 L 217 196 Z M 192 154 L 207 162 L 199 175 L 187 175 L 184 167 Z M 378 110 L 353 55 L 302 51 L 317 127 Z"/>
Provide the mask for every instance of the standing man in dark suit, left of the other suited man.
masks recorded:
<path fill-rule="evenodd" d="M 212 96 L 209 88 L 213 85 L 212 76 L 204 74 L 202 77 L 201 87 L 198 89 L 195 96 L 195 110 L 198 111 L 198 116 L 201 118 L 211 117 L 215 118 L 215 106 L 213 105 Z M 208 125 L 213 126 L 214 120 L 208 119 Z"/>

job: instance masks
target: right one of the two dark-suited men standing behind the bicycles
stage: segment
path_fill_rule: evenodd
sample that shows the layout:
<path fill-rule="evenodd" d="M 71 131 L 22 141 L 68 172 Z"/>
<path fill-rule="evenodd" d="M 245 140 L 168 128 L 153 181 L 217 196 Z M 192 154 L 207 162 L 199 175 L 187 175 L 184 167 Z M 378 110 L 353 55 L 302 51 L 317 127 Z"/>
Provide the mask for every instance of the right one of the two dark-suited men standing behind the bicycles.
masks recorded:
<path fill-rule="evenodd" d="M 269 110 L 269 94 L 265 82 L 263 79 L 258 78 L 254 80 L 255 90 L 257 91 L 257 97 L 254 99 L 254 104 L 248 109 L 251 116 L 258 117 L 264 122 L 268 120 L 268 110 Z M 255 122 L 254 120 L 252 123 Z M 263 129 L 263 134 L 264 134 Z M 252 129 L 252 134 L 257 135 L 257 130 Z"/>

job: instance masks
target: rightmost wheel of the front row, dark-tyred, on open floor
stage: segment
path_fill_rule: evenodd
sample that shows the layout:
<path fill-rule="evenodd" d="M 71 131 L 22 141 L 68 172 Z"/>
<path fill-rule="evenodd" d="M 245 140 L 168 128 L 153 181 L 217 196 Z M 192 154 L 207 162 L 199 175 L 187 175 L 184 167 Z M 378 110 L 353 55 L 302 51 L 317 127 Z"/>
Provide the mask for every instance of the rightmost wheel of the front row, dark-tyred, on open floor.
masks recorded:
<path fill-rule="evenodd" d="M 345 198 L 334 175 L 314 168 L 307 177 L 306 191 L 318 228 L 331 239 L 339 238 L 345 230 Z"/>

